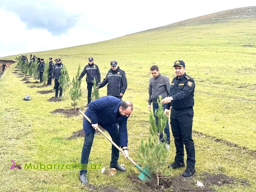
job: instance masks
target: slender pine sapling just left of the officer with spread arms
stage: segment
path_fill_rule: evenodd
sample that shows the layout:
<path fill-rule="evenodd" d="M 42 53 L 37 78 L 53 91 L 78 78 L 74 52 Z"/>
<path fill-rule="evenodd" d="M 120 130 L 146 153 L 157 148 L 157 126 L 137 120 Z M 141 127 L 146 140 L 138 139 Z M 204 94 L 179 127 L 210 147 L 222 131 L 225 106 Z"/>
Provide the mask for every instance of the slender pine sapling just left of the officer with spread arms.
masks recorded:
<path fill-rule="evenodd" d="M 80 88 L 82 81 L 78 81 L 78 78 L 80 75 L 80 70 L 81 70 L 81 67 L 79 65 L 76 76 L 73 77 L 73 80 L 72 80 L 73 87 L 69 91 L 69 95 L 72 100 L 71 106 L 74 108 L 74 110 L 75 110 L 76 106 L 78 105 L 77 104 L 78 99 L 81 98 L 81 96 L 82 96 L 82 90 Z"/>

